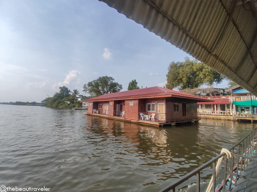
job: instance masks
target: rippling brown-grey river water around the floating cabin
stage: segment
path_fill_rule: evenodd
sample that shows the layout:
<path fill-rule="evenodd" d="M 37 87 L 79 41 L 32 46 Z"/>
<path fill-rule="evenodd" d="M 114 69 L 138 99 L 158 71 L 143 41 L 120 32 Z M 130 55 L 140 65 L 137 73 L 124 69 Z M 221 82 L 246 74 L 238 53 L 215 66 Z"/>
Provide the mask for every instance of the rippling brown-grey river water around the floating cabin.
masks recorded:
<path fill-rule="evenodd" d="M 0 186 L 158 191 L 231 147 L 254 126 L 202 119 L 153 127 L 81 110 L 0 105 Z M 203 172 L 201 182 L 210 174 Z"/>

